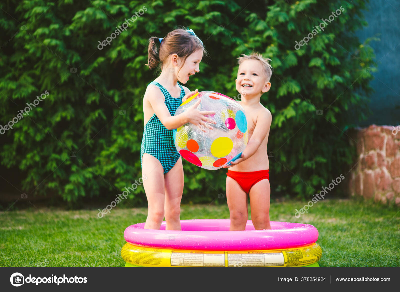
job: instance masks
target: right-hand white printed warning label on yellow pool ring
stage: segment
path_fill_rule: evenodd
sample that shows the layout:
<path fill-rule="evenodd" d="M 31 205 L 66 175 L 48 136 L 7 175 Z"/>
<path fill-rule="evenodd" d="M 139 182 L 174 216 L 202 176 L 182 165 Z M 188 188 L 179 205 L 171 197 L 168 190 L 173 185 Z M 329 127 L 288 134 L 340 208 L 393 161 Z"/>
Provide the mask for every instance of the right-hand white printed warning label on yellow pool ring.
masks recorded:
<path fill-rule="evenodd" d="M 268 267 L 283 266 L 285 258 L 282 252 L 228 252 L 228 267 Z"/>

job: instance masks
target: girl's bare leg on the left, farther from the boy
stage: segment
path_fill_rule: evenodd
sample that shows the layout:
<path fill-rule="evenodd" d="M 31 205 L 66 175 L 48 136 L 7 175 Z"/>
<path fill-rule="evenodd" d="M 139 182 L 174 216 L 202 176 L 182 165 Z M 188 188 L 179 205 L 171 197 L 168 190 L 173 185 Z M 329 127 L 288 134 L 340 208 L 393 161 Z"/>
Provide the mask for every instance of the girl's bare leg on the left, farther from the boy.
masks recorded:
<path fill-rule="evenodd" d="M 142 176 L 148 202 L 148 213 L 144 229 L 160 229 L 164 219 L 164 169 L 158 159 L 148 153 L 143 154 Z"/>

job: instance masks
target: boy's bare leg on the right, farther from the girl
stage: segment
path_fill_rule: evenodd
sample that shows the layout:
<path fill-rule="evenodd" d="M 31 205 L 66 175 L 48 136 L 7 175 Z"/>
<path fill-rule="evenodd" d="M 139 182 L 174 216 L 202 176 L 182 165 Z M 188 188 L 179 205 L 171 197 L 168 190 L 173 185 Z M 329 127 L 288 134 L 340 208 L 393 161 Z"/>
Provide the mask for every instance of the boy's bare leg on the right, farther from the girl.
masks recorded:
<path fill-rule="evenodd" d="M 268 179 L 263 179 L 250 189 L 251 219 L 256 230 L 271 229 L 270 225 L 270 194 Z"/>

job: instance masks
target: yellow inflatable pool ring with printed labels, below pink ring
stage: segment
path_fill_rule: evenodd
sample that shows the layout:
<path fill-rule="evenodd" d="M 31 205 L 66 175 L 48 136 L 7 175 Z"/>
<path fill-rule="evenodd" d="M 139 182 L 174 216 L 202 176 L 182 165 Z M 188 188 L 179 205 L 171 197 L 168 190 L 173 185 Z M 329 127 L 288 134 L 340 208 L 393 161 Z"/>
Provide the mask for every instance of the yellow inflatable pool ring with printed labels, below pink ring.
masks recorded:
<path fill-rule="evenodd" d="M 142 267 L 302 267 L 318 266 L 316 244 L 276 250 L 177 250 L 127 242 L 121 250 L 126 266 Z"/>

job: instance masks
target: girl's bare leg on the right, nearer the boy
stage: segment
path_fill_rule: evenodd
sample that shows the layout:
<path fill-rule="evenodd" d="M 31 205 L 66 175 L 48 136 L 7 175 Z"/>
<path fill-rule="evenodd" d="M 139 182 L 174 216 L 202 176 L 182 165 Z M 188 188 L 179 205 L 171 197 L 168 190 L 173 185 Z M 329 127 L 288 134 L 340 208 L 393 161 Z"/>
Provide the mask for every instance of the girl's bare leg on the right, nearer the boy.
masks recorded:
<path fill-rule="evenodd" d="M 183 193 L 183 165 L 179 157 L 174 167 L 166 173 L 165 177 L 165 221 L 166 230 L 181 230 L 180 226 L 180 201 Z"/>

